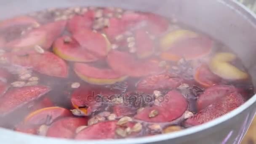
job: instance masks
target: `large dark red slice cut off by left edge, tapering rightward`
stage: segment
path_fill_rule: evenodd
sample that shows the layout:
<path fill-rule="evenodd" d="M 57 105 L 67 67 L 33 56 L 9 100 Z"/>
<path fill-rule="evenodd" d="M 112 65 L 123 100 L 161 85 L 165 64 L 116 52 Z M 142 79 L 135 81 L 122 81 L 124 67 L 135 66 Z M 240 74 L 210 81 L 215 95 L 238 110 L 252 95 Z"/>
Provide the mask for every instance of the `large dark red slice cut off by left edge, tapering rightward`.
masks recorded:
<path fill-rule="evenodd" d="M 0 97 L 0 116 L 7 115 L 29 102 L 39 99 L 50 90 L 43 85 L 10 89 Z"/>

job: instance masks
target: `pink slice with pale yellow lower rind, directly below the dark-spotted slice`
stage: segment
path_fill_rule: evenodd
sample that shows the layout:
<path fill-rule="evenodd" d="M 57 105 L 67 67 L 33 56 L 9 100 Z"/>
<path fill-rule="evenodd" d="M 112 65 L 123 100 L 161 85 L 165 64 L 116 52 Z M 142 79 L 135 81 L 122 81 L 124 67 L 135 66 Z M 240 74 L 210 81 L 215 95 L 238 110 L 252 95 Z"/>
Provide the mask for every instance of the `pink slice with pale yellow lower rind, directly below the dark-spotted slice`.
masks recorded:
<path fill-rule="evenodd" d="M 96 85 L 114 84 L 127 78 L 127 76 L 115 72 L 112 69 L 100 69 L 82 63 L 76 63 L 74 65 L 74 71 L 82 80 Z"/>

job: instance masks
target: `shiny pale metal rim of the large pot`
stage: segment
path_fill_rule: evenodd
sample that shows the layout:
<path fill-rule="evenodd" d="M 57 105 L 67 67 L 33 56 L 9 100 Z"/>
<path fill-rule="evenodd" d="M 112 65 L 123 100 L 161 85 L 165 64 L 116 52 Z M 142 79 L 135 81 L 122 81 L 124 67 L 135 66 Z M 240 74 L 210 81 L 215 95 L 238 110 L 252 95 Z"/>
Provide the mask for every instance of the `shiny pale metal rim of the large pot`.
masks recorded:
<path fill-rule="evenodd" d="M 227 5 L 229 8 L 232 8 L 235 10 L 236 13 L 243 15 L 246 19 L 248 19 L 251 24 L 256 27 L 256 14 L 250 11 L 245 5 L 233 1 L 233 0 L 217 0 L 219 3 L 224 3 Z M 232 4 L 227 4 L 227 2 Z M 241 8 L 241 10 L 237 9 Z M 250 19 L 253 19 L 254 21 L 251 21 Z M 251 97 L 248 101 L 246 101 L 243 105 L 238 107 L 237 109 L 234 109 L 233 111 L 229 112 L 226 115 L 223 115 L 221 117 L 218 117 L 214 120 L 211 120 L 208 123 L 204 123 L 201 125 L 194 126 L 192 128 L 187 128 L 182 131 L 178 131 L 175 133 L 166 133 L 166 134 L 160 134 L 160 135 L 155 135 L 155 136 L 149 136 L 149 137 L 140 137 L 140 138 L 128 138 L 128 139 L 104 139 L 104 140 L 72 140 L 72 139 L 57 139 L 57 138 L 51 138 L 51 137 L 43 137 L 43 136 L 35 136 L 35 135 L 28 135 L 25 133 L 20 133 L 12 130 L 8 130 L 5 128 L 0 128 L 0 138 L 3 137 L 4 140 L 8 141 L 17 141 L 18 143 L 24 143 L 26 144 L 33 144 L 35 141 L 37 144 L 45 144 L 45 142 L 48 143 L 62 143 L 62 144 L 141 144 L 141 143 L 149 143 L 149 142 L 156 142 L 156 141 L 163 141 L 163 140 L 168 140 L 168 139 L 175 139 L 181 136 L 187 136 L 192 133 L 197 133 L 200 131 L 203 131 L 205 129 L 211 128 L 215 125 L 218 125 L 219 123 L 223 123 L 226 120 L 229 120 L 232 117 L 235 117 L 236 115 L 240 114 L 243 112 L 245 109 L 250 107 L 253 103 L 256 101 L 256 94 Z M 8 136 L 13 136 L 13 138 L 10 138 Z M 21 141 L 21 139 L 23 139 Z"/>

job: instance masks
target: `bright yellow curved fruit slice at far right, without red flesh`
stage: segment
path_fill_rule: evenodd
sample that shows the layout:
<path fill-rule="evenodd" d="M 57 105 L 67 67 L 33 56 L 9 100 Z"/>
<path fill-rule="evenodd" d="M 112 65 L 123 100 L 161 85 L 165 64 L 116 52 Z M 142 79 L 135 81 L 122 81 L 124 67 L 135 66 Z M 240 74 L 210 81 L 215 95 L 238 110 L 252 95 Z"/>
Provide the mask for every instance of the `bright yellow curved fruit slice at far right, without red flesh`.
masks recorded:
<path fill-rule="evenodd" d="M 244 80 L 248 78 L 248 74 L 229 64 L 234 61 L 236 56 L 232 53 L 217 53 L 210 61 L 209 67 L 211 71 L 227 80 Z"/>

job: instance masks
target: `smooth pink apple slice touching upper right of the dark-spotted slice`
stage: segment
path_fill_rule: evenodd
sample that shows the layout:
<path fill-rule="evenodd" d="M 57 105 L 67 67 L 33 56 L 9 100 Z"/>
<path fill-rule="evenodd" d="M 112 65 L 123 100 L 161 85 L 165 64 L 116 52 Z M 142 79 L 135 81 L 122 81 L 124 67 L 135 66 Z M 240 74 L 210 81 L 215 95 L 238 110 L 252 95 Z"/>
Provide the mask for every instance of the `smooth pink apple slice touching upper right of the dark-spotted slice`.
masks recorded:
<path fill-rule="evenodd" d="M 104 57 L 111 50 L 111 44 L 106 36 L 92 30 L 83 29 L 74 33 L 77 42 L 96 56 Z"/>

